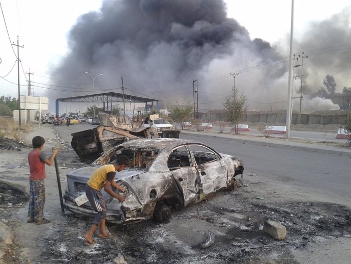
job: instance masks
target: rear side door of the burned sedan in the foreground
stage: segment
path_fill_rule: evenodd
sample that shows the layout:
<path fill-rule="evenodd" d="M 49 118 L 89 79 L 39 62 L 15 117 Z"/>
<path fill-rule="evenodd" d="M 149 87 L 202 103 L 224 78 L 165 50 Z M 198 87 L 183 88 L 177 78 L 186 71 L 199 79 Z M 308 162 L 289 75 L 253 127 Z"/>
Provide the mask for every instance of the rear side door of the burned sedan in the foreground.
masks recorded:
<path fill-rule="evenodd" d="M 172 149 L 168 155 L 167 166 L 183 193 L 184 206 L 196 201 L 199 198 L 199 178 L 187 147 Z"/>

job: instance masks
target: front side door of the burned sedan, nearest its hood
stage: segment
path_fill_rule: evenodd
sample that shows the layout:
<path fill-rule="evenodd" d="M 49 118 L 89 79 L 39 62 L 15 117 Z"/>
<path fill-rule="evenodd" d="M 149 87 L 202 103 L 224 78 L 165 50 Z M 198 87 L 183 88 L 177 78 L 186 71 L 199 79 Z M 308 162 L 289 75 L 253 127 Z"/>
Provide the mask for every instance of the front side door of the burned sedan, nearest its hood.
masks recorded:
<path fill-rule="evenodd" d="M 199 198 L 226 187 L 227 168 L 222 157 L 212 149 L 198 144 L 189 144 L 189 149 L 196 162 L 196 170 L 200 178 Z"/>

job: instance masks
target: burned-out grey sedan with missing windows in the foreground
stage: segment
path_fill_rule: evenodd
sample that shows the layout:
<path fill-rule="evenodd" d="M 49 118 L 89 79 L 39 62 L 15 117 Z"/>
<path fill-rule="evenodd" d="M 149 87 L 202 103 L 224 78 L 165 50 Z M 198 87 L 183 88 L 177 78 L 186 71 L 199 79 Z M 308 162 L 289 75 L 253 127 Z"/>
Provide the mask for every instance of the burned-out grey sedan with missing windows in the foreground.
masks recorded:
<path fill-rule="evenodd" d="M 106 221 L 130 223 L 154 218 L 167 222 L 173 210 L 197 203 L 218 190 L 232 189 L 236 175 L 243 174 L 238 157 L 220 154 L 203 143 L 183 139 L 139 139 L 111 148 L 89 167 L 67 174 L 65 207 L 86 216 L 94 216 L 89 201 L 81 206 L 75 198 L 97 167 L 115 155 L 126 155 L 129 167 L 116 174 L 115 181 L 127 191 L 120 203 L 102 190 L 107 205 Z M 113 190 L 118 193 L 118 190 Z"/>

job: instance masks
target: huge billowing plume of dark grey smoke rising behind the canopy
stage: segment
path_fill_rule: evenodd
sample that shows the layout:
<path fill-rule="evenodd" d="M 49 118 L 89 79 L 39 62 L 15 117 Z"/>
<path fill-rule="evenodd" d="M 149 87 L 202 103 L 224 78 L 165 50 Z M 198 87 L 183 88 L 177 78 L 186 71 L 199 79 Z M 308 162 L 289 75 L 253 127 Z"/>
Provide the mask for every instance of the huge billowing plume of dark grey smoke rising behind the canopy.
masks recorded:
<path fill-rule="evenodd" d="M 318 26 L 313 25 L 315 37 L 326 34 L 323 31 L 318 34 Z M 349 40 L 349 32 L 347 35 Z M 347 35 L 335 43 L 350 43 Z M 308 32 L 306 36 L 310 38 L 303 38 L 299 49 L 318 49 L 307 43 L 317 45 Z M 235 80 L 239 91 L 248 97 L 249 110 L 286 108 L 288 53 L 279 54 L 264 40 L 251 40 L 242 25 L 227 18 L 225 3 L 220 0 L 106 0 L 100 12 L 78 19 L 68 43 L 70 51 L 52 71 L 55 80 L 60 80 L 56 85 L 84 85 L 84 90 L 91 94 L 93 80 L 85 72 L 93 76 L 103 73 L 96 78 L 95 92 L 121 93 L 123 75 L 126 94 L 153 97 L 169 105 L 192 103 L 193 80 L 197 78 L 199 110 L 213 110 L 223 109 L 224 98 Z M 305 52 L 308 54 L 307 49 Z M 327 74 L 335 76 L 339 84 L 339 75 L 334 75 L 337 66 L 330 71 L 321 70 L 331 63 L 331 57 L 325 57 L 329 59 L 323 63 L 318 55 L 308 57 L 304 76 L 308 93 L 317 92 Z M 240 74 L 233 79 L 230 72 Z M 343 80 L 347 77 L 345 74 Z M 61 92 L 57 97 L 66 96 Z M 327 104 L 318 101 L 320 105 Z"/>

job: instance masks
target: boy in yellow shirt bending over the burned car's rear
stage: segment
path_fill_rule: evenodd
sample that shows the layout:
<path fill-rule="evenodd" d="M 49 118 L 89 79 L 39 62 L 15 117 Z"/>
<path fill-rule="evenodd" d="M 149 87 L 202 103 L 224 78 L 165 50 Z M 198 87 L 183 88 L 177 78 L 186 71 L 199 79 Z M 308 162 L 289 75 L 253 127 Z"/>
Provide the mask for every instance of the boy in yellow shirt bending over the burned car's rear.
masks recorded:
<path fill-rule="evenodd" d="M 128 157 L 120 155 L 112 164 L 104 165 L 98 168 L 85 185 L 85 194 L 89 199 L 91 205 L 98 214 L 93 220 L 93 225 L 84 235 L 86 239 L 85 245 L 94 244 L 93 234 L 95 229 L 100 225 L 98 237 L 106 238 L 108 234 L 105 231 L 106 223 L 106 203 L 104 197 L 102 196 L 101 190 L 104 188 L 104 191 L 111 195 L 112 197 L 118 199 L 120 202 L 123 202 L 126 198 L 121 195 L 116 194 L 112 191 L 111 186 L 124 192 L 125 189 L 119 186 L 114 182 L 114 177 L 116 171 L 120 172 L 128 166 Z"/>

